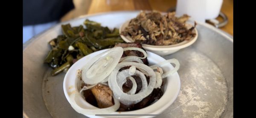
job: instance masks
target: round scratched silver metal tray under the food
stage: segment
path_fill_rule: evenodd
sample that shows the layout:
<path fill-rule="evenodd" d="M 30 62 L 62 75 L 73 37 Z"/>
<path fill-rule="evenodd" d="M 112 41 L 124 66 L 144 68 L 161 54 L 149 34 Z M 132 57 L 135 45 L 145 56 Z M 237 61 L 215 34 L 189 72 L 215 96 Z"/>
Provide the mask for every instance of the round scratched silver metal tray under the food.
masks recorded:
<path fill-rule="evenodd" d="M 113 12 L 69 21 L 80 25 L 86 17 L 104 17 L 110 28 L 135 17 L 137 12 Z M 119 17 L 118 21 L 114 20 Z M 111 19 L 113 19 L 111 21 Z M 67 22 L 66 22 L 67 23 Z M 47 42 L 61 33 L 59 24 L 23 45 L 23 116 L 30 118 L 84 118 L 75 112 L 63 92 L 65 73 L 51 77 L 42 64 Z M 175 102 L 157 118 L 233 118 L 233 37 L 199 23 L 198 40 L 164 58 L 180 61 L 181 88 Z M 168 94 L 168 93 L 165 93 Z"/>

